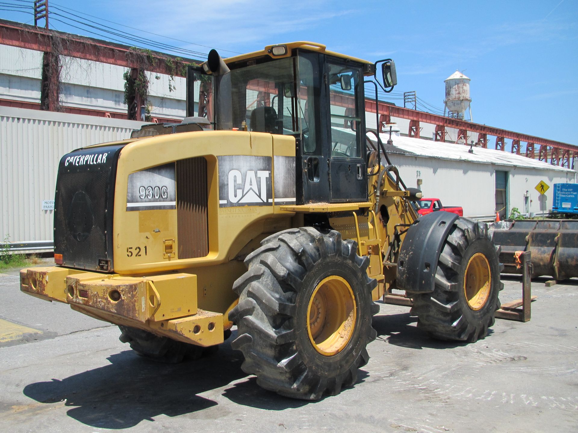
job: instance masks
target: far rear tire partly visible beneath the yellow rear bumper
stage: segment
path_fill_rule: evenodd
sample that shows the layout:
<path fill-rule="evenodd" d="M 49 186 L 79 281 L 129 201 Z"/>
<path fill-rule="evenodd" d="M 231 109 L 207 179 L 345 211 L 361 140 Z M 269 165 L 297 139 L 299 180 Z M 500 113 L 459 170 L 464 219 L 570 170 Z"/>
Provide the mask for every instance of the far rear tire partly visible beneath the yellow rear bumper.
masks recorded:
<path fill-rule="evenodd" d="M 131 349 L 140 356 L 161 363 L 176 364 L 183 359 L 198 359 L 205 353 L 212 353 L 218 346 L 202 348 L 193 344 L 175 341 L 168 337 L 160 337 L 142 329 L 129 326 L 119 326 L 121 342 L 128 343 Z"/>

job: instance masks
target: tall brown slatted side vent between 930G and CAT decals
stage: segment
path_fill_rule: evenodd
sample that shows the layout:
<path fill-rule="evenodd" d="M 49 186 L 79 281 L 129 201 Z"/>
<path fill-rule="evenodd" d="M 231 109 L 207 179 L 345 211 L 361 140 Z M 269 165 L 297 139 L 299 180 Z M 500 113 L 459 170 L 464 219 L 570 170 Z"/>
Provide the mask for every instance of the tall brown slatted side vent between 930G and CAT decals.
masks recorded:
<path fill-rule="evenodd" d="M 179 259 L 205 257 L 209 253 L 207 160 L 181 159 L 176 168 Z"/>

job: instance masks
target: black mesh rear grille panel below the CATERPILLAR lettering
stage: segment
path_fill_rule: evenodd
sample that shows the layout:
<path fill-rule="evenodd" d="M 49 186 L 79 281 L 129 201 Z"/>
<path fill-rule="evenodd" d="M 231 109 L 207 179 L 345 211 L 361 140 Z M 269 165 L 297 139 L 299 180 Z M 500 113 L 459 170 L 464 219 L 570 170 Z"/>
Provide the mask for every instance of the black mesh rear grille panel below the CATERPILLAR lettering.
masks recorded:
<path fill-rule="evenodd" d="M 58 176 L 54 252 L 62 254 L 64 266 L 98 270 L 98 259 L 108 256 L 108 177 L 108 170 Z"/>

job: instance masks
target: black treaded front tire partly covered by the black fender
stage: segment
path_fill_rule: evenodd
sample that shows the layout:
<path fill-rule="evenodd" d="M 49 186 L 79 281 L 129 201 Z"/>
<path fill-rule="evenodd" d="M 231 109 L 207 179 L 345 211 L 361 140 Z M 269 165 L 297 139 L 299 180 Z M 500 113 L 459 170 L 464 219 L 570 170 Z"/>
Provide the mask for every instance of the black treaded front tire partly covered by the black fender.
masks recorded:
<path fill-rule="evenodd" d="M 417 326 L 443 340 L 475 342 L 486 337 L 488 328 L 494 324 L 495 311 L 500 308 L 498 292 L 503 289 L 499 252 L 486 223 L 458 218 L 440 253 L 435 289 L 432 293 L 409 293 Z M 486 257 L 491 276 L 487 300 L 477 310 L 469 307 L 464 289 L 466 267 L 476 253 Z"/>

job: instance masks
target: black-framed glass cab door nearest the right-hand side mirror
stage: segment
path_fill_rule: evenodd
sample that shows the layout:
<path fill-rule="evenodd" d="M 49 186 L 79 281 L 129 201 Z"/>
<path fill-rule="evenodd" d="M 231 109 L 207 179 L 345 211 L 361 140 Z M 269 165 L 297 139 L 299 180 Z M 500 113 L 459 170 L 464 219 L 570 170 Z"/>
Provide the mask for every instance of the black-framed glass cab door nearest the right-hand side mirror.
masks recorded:
<path fill-rule="evenodd" d="M 361 66 L 328 57 L 324 78 L 329 105 L 326 146 L 329 154 L 330 201 L 367 201 Z"/>

